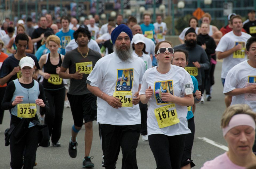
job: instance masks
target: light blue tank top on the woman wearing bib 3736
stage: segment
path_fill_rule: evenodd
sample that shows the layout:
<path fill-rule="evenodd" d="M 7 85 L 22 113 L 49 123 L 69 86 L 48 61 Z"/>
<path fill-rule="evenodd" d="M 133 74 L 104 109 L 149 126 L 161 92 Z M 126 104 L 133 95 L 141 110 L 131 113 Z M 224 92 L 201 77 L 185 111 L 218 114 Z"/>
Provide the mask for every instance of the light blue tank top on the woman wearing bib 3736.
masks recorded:
<path fill-rule="evenodd" d="M 16 96 L 23 96 L 24 97 L 24 98 L 22 98 L 23 101 L 20 104 L 26 104 L 26 103 L 30 103 L 30 104 L 34 103 L 35 104 L 35 100 L 38 99 L 40 91 L 39 91 L 38 82 L 35 81 L 34 79 L 33 79 L 33 81 L 34 81 L 33 87 L 25 88 L 25 87 L 21 86 L 18 79 L 15 79 L 13 81 L 14 85 L 15 85 L 15 91 L 13 93 L 13 97 L 11 98 L 11 100 L 14 100 Z M 11 109 L 11 114 L 14 116 L 17 116 L 17 114 L 18 114 L 17 112 L 18 112 L 18 105 L 15 105 L 15 107 Z M 38 112 L 39 112 L 39 110 L 38 110 Z M 19 118 L 21 118 L 21 117 L 19 117 Z M 34 125 L 35 125 L 34 123 L 29 122 L 29 127 L 32 127 Z"/>

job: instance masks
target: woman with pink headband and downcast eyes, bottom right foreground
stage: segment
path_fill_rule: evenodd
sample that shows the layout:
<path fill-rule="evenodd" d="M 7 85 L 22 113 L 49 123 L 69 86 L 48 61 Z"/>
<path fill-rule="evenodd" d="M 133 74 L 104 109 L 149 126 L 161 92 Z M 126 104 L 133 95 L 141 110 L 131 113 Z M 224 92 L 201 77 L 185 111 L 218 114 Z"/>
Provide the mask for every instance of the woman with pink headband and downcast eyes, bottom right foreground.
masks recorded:
<path fill-rule="evenodd" d="M 247 104 L 234 104 L 222 115 L 221 127 L 229 151 L 204 163 L 201 169 L 245 169 L 256 164 L 252 151 L 256 114 Z"/>

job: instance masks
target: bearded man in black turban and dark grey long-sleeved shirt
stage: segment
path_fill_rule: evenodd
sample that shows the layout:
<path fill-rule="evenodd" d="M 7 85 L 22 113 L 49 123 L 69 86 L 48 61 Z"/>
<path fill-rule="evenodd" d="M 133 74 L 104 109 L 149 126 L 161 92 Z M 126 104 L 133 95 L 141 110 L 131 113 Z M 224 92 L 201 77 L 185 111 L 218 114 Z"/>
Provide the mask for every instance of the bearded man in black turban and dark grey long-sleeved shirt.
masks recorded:
<path fill-rule="evenodd" d="M 201 91 L 202 76 L 200 69 L 209 69 L 210 62 L 205 50 L 200 45 L 197 45 L 195 29 L 189 28 L 185 33 L 185 44 L 175 46 L 173 49 L 174 51 L 176 49 L 185 49 L 189 52 L 189 63 L 185 69 L 197 79 L 198 88 Z"/>

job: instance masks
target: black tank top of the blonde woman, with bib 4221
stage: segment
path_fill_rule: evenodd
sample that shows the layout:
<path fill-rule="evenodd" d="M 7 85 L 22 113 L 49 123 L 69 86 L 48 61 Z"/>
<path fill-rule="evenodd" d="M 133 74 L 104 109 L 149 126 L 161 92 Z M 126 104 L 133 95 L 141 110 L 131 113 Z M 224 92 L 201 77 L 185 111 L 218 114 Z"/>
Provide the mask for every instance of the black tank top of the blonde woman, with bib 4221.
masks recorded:
<path fill-rule="evenodd" d="M 50 53 L 48 54 L 47 62 L 43 65 L 43 69 L 45 73 L 51 74 L 51 77 L 49 79 L 43 78 L 43 87 L 45 89 L 50 90 L 56 90 L 64 87 L 63 79 L 59 78 L 59 75 L 56 73 L 57 66 L 61 67 L 62 60 L 61 60 L 61 54 L 59 54 L 59 63 L 58 65 L 51 64 L 50 61 Z"/>

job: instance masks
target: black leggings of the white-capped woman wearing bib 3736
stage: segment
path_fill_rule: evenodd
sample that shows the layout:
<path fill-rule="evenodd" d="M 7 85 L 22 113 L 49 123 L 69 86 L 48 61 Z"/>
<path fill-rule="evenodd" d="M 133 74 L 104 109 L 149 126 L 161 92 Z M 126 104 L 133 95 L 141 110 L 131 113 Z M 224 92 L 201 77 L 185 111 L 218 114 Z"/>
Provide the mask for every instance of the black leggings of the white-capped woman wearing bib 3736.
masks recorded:
<path fill-rule="evenodd" d="M 10 136 L 10 151 L 11 151 L 11 168 L 33 169 L 35 164 L 35 155 L 37 152 L 39 131 L 33 126 L 27 129 L 26 134 L 17 142 L 14 134 Z M 24 156 L 24 159 L 23 159 Z"/>

